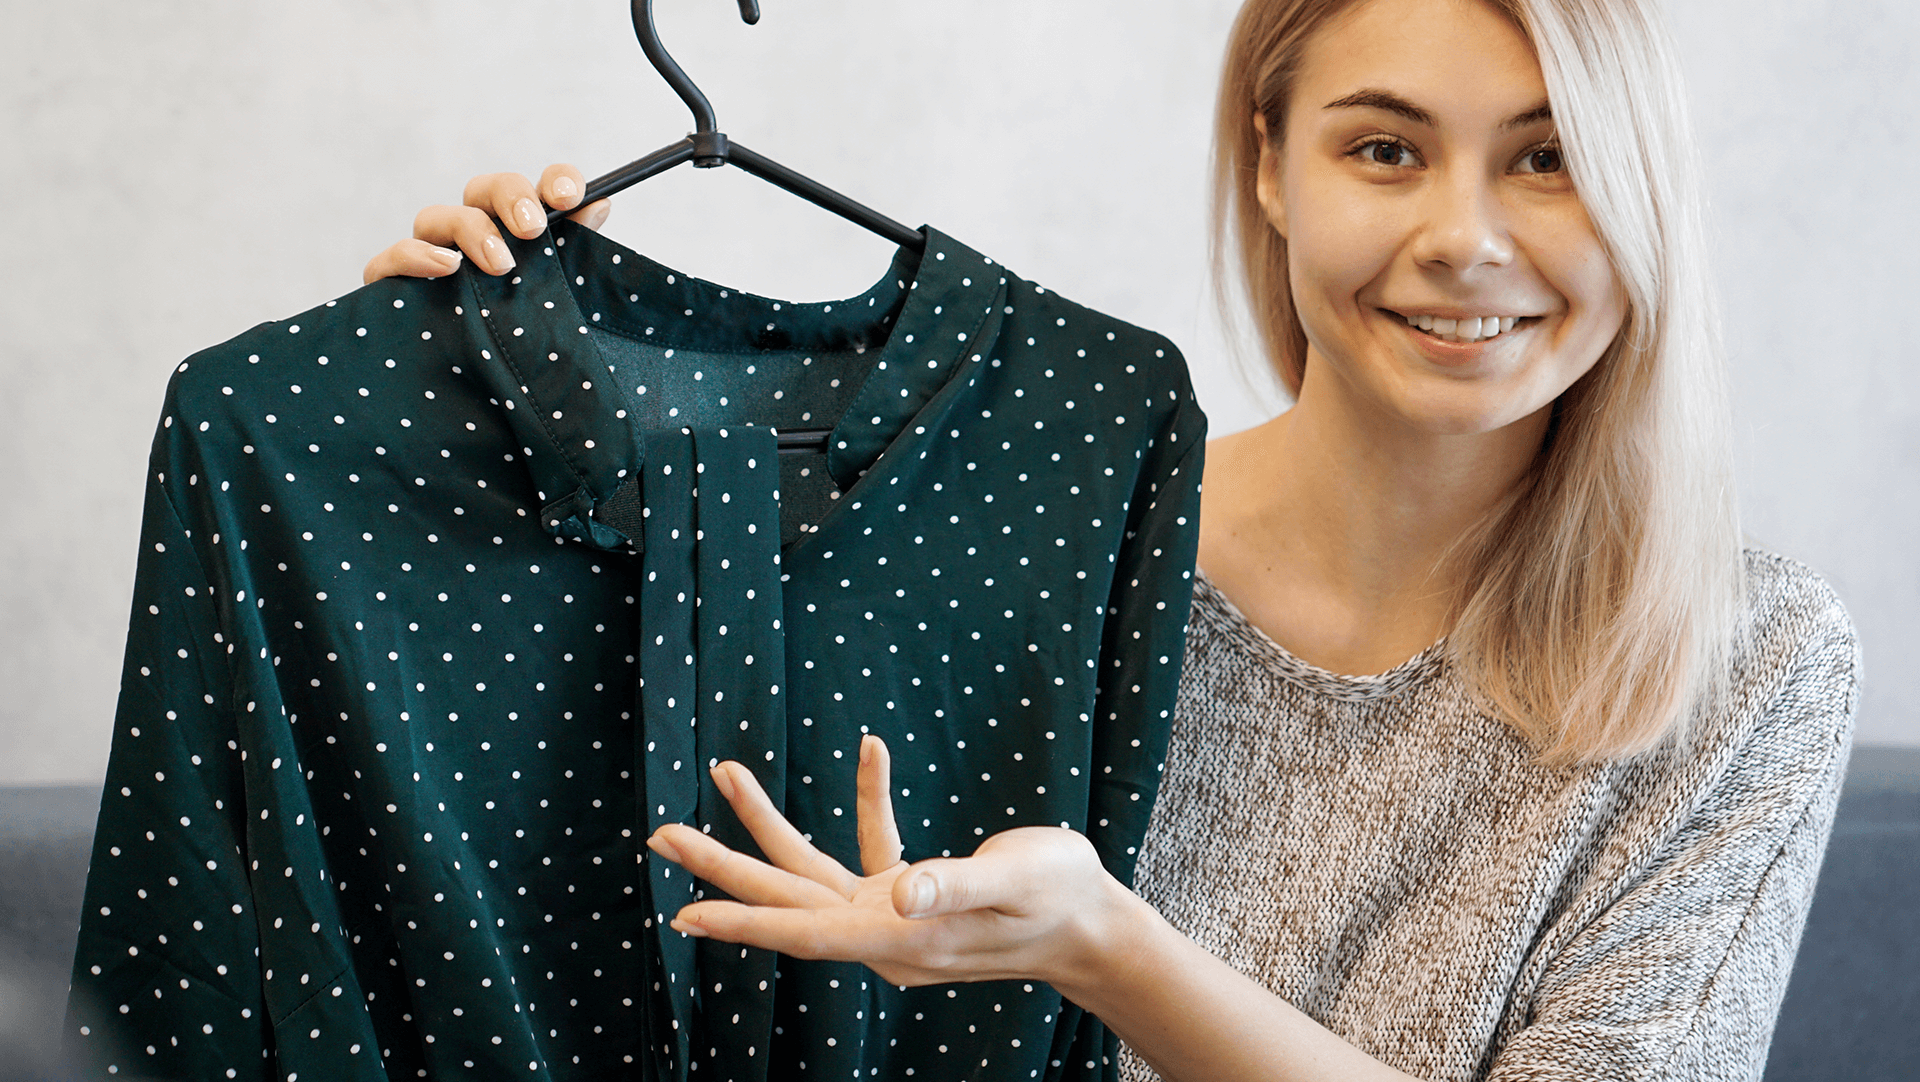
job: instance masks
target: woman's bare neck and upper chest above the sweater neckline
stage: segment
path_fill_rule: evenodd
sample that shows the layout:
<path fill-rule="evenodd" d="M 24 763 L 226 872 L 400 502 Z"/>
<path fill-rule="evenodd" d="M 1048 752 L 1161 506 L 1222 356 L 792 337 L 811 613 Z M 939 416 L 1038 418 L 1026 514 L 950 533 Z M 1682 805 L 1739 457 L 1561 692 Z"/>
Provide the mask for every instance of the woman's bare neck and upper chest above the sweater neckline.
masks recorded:
<path fill-rule="evenodd" d="M 1394 668 L 1446 633 L 1446 554 L 1524 478 L 1546 411 L 1419 432 L 1338 393 L 1208 447 L 1200 566 L 1246 618 L 1336 673 Z"/>

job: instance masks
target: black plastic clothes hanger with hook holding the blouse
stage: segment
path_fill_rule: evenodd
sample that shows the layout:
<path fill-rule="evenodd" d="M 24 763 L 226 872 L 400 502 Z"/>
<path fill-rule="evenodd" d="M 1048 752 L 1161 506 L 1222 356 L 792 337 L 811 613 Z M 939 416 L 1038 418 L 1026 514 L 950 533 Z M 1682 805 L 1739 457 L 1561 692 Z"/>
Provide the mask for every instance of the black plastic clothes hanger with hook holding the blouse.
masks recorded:
<path fill-rule="evenodd" d="M 829 209 L 858 226 L 866 226 L 902 247 L 925 251 L 927 238 L 920 230 L 906 228 L 874 207 L 849 200 L 826 184 L 808 180 L 785 165 L 760 157 L 745 146 L 726 138 L 726 134 L 718 130 L 714 107 L 707 102 L 707 94 L 701 94 L 701 88 L 687 79 L 687 73 L 682 71 L 680 63 L 666 54 L 666 46 L 660 44 L 660 31 L 653 25 L 653 0 L 632 2 L 634 35 L 639 38 L 639 48 L 647 54 L 653 69 L 660 73 L 660 79 L 666 79 L 666 84 L 672 86 L 674 92 L 680 94 L 680 100 L 687 104 L 687 109 L 693 111 L 693 134 L 676 144 L 662 146 L 647 157 L 630 161 L 605 176 L 595 176 L 588 184 L 588 194 L 580 200 L 582 207 L 595 200 L 605 200 L 607 196 L 624 192 L 647 176 L 666 173 L 685 161 L 691 161 L 695 169 L 714 169 L 732 163 L 778 188 L 793 192 L 808 203 Z M 758 0 L 739 0 L 739 17 L 747 25 L 758 23 Z M 828 428 L 789 428 L 776 432 L 776 437 L 780 441 L 781 455 L 814 455 L 828 449 L 829 434 L 831 430 Z"/>

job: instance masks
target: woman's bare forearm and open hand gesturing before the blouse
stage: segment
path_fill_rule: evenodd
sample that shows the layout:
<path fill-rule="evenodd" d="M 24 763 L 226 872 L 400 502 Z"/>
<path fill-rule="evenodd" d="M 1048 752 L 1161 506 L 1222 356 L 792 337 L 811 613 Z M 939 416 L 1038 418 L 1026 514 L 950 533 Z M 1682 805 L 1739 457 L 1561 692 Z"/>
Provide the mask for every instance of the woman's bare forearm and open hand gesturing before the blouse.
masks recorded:
<path fill-rule="evenodd" d="M 647 842 L 659 856 L 739 900 L 687 906 L 674 927 L 793 957 L 860 961 L 902 986 L 1046 980 L 1169 1082 L 1409 1078 L 1179 934 L 1106 873 L 1085 836 L 1020 827 L 972 858 L 908 865 L 877 737 L 860 744 L 858 779 L 866 875 L 803 838 L 753 771 L 716 765 L 714 783 L 770 863 L 691 827 L 662 827 Z"/>

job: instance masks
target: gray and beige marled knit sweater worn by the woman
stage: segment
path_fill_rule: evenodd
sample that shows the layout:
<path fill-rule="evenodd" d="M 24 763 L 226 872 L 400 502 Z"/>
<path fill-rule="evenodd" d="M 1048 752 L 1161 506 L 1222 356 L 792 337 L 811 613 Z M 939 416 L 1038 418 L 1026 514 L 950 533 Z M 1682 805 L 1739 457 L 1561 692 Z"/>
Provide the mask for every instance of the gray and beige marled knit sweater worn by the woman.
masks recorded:
<path fill-rule="evenodd" d="M 1751 641 L 1686 754 L 1544 769 L 1440 647 L 1344 677 L 1204 577 L 1139 892 L 1417 1078 L 1759 1078 L 1859 698 L 1853 623 L 1747 553 Z M 1152 1078 L 1131 1049 L 1121 1076 Z"/>

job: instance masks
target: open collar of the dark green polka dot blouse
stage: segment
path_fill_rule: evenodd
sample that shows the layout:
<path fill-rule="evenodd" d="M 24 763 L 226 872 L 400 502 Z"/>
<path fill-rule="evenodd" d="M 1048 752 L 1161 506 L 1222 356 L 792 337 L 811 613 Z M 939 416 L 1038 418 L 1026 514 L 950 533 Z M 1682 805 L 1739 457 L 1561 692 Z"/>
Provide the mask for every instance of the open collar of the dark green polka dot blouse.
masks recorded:
<path fill-rule="evenodd" d="M 1006 272 L 939 230 L 924 234 L 924 253 L 902 247 L 872 290 L 845 301 L 791 303 L 716 286 L 564 219 L 540 238 L 509 240 L 511 274 L 463 269 L 476 368 L 520 441 L 541 524 L 603 549 L 636 541 L 603 520 L 609 501 L 632 497 L 645 432 L 630 420 L 626 388 L 605 378 L 611 366 L 593 326 L 689 349 L 877 345 L 828 437 L 828 470 L 851 489 L 998 336 Z"/>

